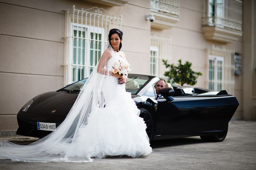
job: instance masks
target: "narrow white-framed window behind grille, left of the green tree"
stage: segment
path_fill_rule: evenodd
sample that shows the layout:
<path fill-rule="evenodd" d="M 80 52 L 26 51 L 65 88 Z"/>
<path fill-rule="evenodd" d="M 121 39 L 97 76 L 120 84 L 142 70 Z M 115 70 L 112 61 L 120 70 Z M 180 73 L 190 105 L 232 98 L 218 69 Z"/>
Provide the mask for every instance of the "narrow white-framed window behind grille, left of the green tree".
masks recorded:
<path fill-rule="evenodd" d="M 158 75 L 158 47 L 150 46 L 150 75 Z"/>

